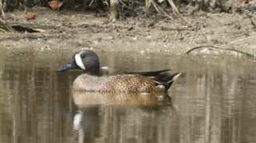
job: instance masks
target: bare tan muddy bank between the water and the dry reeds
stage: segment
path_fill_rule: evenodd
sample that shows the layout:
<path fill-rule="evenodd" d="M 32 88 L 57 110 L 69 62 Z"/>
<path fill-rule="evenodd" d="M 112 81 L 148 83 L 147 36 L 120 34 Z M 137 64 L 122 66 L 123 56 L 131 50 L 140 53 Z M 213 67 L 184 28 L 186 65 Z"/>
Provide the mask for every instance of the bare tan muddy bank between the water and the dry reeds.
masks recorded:
<path fill-rule="evenodd" d="M 93 48 L 106 52 L 165 52 L 175 55 L 201 45 L 234 48 L 256 55 L 256 33 L 246 14 L 183 14 L 180 19 L 136 17 L 106 23 L 108 17 L 85 12 L 55 12 L 44 8 L 29 10 L 37 15 L 26 21 L 23 11 L 7 13 L 11 24 L 45 29 L 45 33 L 3 33 L 1 48 L 36 50 Z M 217 53 L 223 50 L 200 48 L 195 52 Z M 228 51 L 230 53 L 230 51 Z M 237 53 L 237 52 L 231 52 Z"/>

